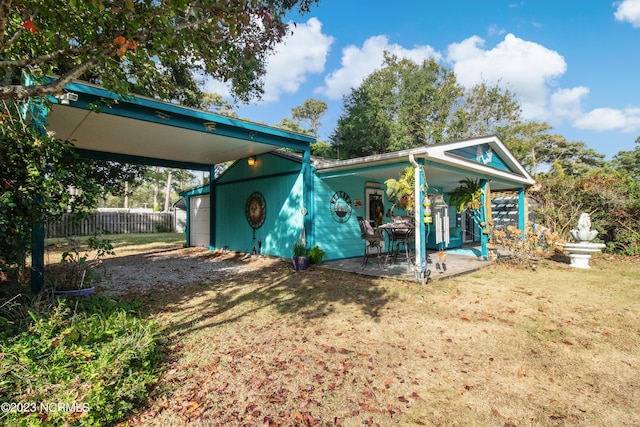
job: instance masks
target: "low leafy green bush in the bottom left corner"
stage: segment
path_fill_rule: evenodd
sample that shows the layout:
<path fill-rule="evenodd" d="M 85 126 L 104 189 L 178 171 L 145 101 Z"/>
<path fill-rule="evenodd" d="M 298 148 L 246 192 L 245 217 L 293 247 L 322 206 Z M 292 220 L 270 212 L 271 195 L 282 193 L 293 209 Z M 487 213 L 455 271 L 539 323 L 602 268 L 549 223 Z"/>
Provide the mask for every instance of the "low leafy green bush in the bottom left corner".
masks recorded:
<path fill-rule="evenodd" d="M 29 329 L 0 343 L 0 402 L 31 405 L 1 412 L 0 425 L 110 425 L 148 396 L 156 325 L 104 298 L 73 307 L 31 312 Z"/>

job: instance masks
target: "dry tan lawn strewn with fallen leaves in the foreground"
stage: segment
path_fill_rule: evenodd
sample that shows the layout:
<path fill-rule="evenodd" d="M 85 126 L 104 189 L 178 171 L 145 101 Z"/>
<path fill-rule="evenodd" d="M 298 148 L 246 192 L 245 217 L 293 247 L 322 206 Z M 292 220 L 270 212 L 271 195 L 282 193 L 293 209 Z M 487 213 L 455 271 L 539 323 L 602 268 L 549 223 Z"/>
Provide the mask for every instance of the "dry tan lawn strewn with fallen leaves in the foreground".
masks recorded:
<path fill-rule="evenodd" d="M 640 420 L 637 260 L 496 264 L 429 286 L 260 262 L 136 295 L 163 328 L 165 370 L 123 425 Z"/>

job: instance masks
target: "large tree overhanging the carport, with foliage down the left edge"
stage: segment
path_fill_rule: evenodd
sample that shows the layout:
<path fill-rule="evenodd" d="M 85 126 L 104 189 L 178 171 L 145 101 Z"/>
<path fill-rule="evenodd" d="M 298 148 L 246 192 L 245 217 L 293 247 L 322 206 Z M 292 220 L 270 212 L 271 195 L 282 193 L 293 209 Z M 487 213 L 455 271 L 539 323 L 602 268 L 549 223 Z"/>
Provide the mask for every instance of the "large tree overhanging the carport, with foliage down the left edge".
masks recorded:
<path fill-rule="evenodd" d="M 44 133 L 38 110 L 46 96 L 85 79 L 121 96 L 197 105 L 205 100 L 192 76 L 207 75 L 230 82 L 242 101 L 259 97 L 267 55 L 288 31 L 286 14 L 317 2 L 0 1 L 0 260 L 23 266 L 31 229 L 45 215 L 94 207 L 109 190 L 69 144 Z M 69 187 L 82 191 L 63 194 Z"/>

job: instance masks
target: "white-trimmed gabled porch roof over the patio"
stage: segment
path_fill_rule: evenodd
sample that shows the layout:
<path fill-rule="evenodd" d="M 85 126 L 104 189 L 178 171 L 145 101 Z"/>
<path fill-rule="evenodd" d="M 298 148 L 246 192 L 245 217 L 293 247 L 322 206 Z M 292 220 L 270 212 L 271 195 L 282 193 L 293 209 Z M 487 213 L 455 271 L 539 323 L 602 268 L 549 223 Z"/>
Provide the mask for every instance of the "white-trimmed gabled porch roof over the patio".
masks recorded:
<path fill-rule="evenodd" d="M 429 145 L 348 160 L 316 160 L 323 177 L 357 175 L 372 179 L 397 178 L 410 165 L 409 156 L 422 159 L 429 185 L 449 192 L 463 178 L 490 179 L 493 190 L 513 190 L 535 183 L 531 175 L 496 136 Z"/>

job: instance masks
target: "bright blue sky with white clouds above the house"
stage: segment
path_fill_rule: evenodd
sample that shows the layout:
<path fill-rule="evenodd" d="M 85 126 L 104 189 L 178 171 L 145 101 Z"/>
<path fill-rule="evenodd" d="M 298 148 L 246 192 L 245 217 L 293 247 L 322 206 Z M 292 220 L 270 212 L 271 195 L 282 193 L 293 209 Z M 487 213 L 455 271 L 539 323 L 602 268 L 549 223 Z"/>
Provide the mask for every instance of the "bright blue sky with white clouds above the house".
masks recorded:
<path fill-rule="evenodd" d="M 640 0 L 321 0 L 270 56 L 262 100 L 240 117 L 275 125 L 309 98 L 328 105 L 382 65 L 383 52 L 433 58 L 471 87 L 500 83 L 525 120 L 611 159 L 640 136 Z M 221 94 L 219 83 L 205 88 Z M 226 92 L 225 92 L 226 91 Z"/>

